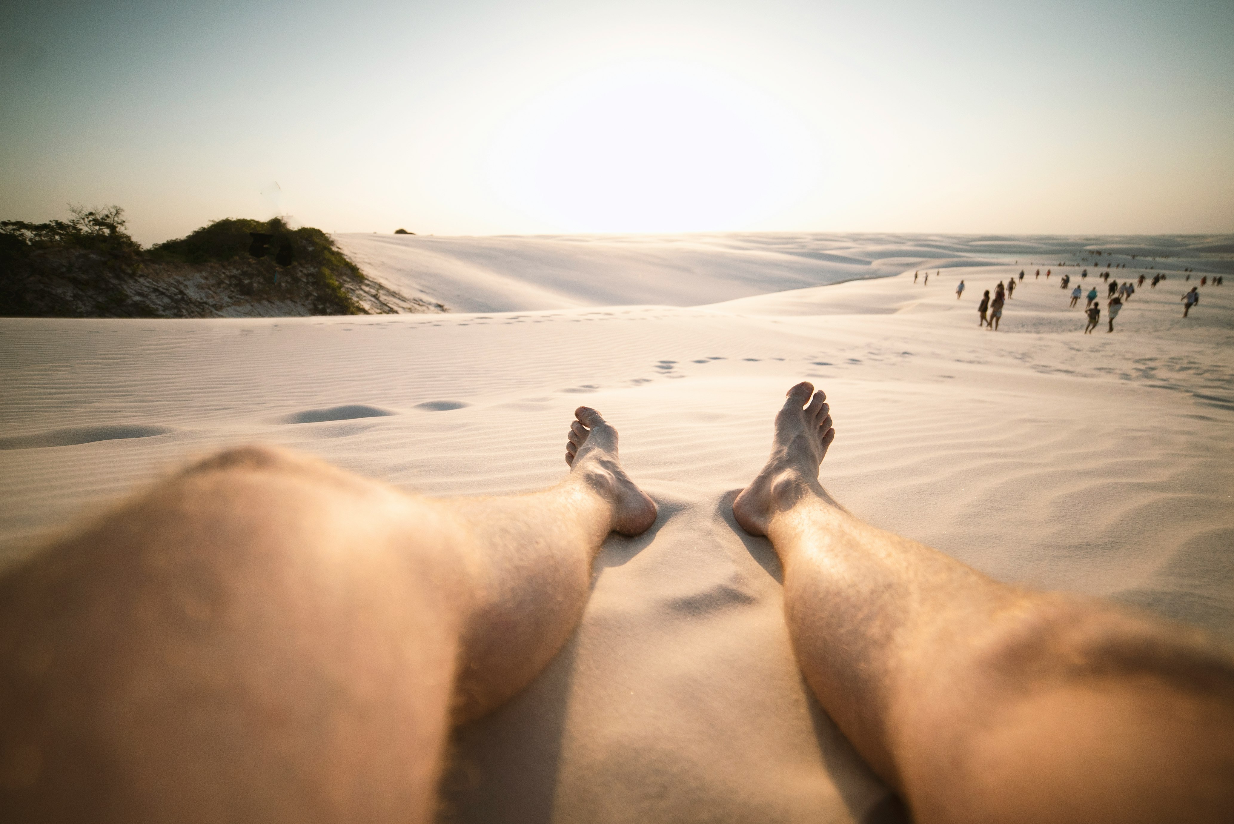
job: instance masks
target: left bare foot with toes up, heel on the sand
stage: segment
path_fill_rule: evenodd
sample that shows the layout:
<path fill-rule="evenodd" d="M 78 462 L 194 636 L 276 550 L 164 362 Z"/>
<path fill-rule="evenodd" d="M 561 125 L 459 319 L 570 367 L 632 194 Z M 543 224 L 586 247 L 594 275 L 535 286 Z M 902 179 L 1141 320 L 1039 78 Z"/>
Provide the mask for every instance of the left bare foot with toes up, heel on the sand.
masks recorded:
<path fill-rule="evenodd" d="M 617 458 L 617 431 L 590 406 L 574 411 L 570 440 L 565 444 L 565 463 L 571 475 L 587 484 L 613 503 L 613 529 L 623 535 L 638 535 L 655 523 L 655 502 L 634 486 Z"/>

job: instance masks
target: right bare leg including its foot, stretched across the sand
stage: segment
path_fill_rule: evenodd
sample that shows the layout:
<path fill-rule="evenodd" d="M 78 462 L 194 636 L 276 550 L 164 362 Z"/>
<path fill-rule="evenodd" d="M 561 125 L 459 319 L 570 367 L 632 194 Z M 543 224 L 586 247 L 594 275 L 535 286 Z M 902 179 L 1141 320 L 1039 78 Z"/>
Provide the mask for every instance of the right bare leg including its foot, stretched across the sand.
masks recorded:
<path fill-rule="evenodd" d="M 807 681 L 916 819 L 1228 820 L 1227 653 L 858 521 L 818 482 L 835 431 L 812 391 L 790 390 L 733 511 L 780 555 Z"/>

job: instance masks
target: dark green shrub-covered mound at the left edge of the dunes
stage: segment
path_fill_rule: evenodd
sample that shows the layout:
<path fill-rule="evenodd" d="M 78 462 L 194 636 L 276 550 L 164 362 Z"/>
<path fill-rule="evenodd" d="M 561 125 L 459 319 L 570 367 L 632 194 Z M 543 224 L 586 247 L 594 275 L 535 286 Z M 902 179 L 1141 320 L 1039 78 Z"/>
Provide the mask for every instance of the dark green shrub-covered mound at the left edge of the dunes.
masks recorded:
<path fill-rule="evenodd" d="M 321 229 L 226 218 L 142 249 L 118 206 L 0 222 L 0 315 L 210 317 L 444 311 L 368 281 Z"/>

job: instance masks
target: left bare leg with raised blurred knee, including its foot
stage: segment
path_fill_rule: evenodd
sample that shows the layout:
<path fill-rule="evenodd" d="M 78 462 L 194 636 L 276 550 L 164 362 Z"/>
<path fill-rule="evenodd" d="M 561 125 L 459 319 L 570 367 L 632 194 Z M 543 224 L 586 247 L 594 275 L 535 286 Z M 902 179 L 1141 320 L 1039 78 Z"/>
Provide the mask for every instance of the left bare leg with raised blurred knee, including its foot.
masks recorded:
<path fill-rule="evenodd" d="M 608 532 L 655 519 L 576 414 L 544 492 L 427 500 L 238 449 L 6 575 L 6 820 L 428 820 L 452 720 L 534 677 Z"/>

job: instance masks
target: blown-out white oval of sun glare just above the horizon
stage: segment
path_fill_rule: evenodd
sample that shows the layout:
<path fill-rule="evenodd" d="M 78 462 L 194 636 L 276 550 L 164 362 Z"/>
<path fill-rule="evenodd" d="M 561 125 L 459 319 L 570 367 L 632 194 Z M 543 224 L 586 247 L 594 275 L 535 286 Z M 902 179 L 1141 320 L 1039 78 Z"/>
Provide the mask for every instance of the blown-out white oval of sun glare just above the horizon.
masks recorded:
<path fill-rule="evenodd" d="M 574 78 L 494 137 L 490 180 L 528 217 L 568 232 L 748 227 L 791 206 L 818 174 L 817 142 L 749 84 L 642 63 Z"/>

